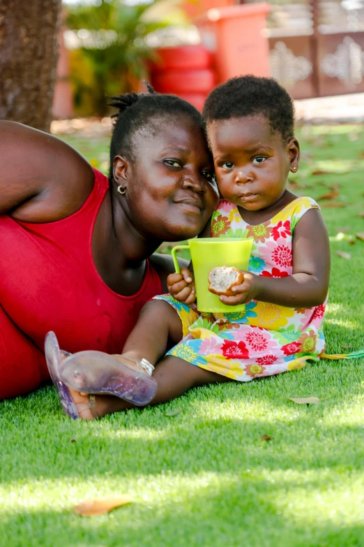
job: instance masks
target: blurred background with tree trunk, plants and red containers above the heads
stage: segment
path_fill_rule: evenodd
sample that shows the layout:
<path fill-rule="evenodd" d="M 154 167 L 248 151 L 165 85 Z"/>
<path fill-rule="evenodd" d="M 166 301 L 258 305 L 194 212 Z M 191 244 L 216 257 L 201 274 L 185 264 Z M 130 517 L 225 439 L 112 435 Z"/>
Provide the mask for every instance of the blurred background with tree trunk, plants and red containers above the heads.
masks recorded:
<path fill-rule="evenodd" d="M 241 1 L 0 0 L 0 118 L 45 131 L 103 120 L 106 96 L 141 91 L 143 78 L 202 110 L 215 85 L 246 73 L 294 99 L 341 98 L 310 103 L 313 117 L 363 114 L 364 0 Z"/>

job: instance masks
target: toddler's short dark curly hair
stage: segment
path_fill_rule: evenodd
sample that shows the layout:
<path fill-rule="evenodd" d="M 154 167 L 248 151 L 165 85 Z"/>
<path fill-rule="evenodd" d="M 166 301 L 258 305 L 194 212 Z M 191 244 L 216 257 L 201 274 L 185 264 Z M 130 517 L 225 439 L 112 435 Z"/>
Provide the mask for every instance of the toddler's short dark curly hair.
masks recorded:
<path fill-rule="evenodd" d="M 206 99 L 203 117 L 207 125 L 215 119 L 255 114 L 266 116 L 283 140 L 294 136 L 294 103 L 273 78 L 246 75 L 218 85 Z"/>

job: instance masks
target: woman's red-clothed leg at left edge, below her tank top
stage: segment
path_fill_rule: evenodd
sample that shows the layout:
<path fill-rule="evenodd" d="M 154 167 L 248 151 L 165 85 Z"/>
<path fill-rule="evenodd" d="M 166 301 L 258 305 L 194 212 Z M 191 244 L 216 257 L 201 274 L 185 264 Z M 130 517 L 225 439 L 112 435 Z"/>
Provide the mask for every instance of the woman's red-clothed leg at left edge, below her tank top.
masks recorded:
<path fill-rule="evenodd" d="M 0 400 L 29 393 L 48 378 L 44 353 L 0 306 Z"/>

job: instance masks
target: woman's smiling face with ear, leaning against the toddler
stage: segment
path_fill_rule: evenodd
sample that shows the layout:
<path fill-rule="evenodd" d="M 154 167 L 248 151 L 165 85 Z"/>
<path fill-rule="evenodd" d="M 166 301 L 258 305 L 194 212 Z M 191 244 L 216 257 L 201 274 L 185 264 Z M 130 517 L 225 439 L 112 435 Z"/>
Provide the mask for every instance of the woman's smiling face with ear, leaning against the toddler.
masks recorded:
<path fill-rule="evenodd" d="M 146 238 L 193 238 L 218 203 L 213 162 L 204 133 L 192 119 L 151 120 L 133 139 L 135 161 L 116 157 L 114 179 L 126 187 L 121 204 Z"/>

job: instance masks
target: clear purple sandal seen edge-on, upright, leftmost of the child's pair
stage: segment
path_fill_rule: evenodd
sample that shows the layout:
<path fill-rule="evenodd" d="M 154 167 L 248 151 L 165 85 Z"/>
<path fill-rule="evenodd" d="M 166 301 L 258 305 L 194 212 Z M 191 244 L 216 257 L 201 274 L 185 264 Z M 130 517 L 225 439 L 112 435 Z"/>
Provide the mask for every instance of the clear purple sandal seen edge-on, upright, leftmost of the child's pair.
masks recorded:
<path fill-rule="evenodd" d="M 56 335 L 50 331 L 45 337 L 45 360 L 47 361 L 47 367 L 50 371 L 54 387 L 59 395 L 62 408 L 67 416 L 70 416 L 70 418 L 75 420 L 76 418 L 79 418 L 76 405 L 70 395 L 70 390 L 66 384 L 63 384 L 63 381 L 59 376 L 59 367 L 63 363 L 62 353 L 64 355 L 70 355 L 67 351 L 61 352 Z"/>

